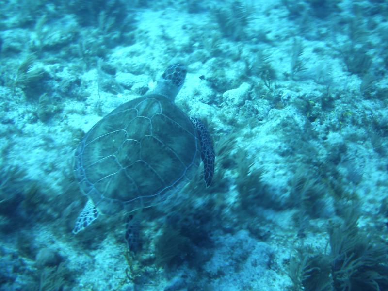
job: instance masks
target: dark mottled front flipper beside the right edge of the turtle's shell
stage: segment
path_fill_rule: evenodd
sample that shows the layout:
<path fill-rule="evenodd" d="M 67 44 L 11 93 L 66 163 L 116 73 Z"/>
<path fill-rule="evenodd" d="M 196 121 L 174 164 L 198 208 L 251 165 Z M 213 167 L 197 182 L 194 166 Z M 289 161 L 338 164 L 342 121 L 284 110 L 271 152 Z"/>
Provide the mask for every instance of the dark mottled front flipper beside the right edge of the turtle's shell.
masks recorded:
<path fill-rule="evenodd" d="M 209 187 L 214 174 L 215 155 L 213 143 L 211 141 L 208 129 L 206 129 L 201 120 L 196 117 L 191 117 L 190 120 L 198 132 L 199 141 L 201 144 L 201 158 L 204 168 L 203 178 L 205 180 L 206 187 Z"/>

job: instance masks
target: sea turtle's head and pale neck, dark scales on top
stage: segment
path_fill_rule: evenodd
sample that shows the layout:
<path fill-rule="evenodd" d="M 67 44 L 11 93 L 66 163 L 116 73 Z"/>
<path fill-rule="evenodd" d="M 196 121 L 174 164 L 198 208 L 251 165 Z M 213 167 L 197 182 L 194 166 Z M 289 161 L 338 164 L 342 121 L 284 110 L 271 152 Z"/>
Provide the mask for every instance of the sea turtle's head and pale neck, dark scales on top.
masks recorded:
<path fill-rule="evenodd" d="M 170 65 L 159 79 L 154 93 L 161 94 L 174 102 L 185 81 L 186 72 L 186 66 L 181 63 Z"/>

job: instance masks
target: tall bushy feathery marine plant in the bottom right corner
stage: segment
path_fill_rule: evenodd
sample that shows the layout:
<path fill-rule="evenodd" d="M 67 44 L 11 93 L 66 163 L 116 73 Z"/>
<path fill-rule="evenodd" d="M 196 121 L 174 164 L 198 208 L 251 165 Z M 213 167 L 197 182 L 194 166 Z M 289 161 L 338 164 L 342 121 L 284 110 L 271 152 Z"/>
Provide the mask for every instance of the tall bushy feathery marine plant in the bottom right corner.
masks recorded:
<path fill-rule="evenodd" d="M 331 275 L 335 290 L 388 290 L 388 246 L 376 232 L 358 228 L 355 206 L 340 226 L 329 227 Z"/>

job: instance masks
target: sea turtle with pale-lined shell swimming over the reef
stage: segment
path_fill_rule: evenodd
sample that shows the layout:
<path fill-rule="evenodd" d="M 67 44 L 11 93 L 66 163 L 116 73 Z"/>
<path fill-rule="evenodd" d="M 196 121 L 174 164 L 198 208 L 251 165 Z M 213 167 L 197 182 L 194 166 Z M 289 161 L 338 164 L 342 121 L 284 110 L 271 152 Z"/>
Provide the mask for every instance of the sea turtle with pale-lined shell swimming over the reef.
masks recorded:
<path fill-rule="evenodd" d="M 186 77 L 169 66 L 152 94 L 126 102 L 97 122 L 75 151 L 74 174 L 88 201 L 73 233 L 100 213 L 153 206 L 194 177 L 202 159 L 210 185 L 214 150 L 209 132 L 174 104 Z"/>

